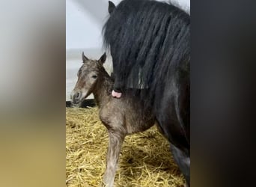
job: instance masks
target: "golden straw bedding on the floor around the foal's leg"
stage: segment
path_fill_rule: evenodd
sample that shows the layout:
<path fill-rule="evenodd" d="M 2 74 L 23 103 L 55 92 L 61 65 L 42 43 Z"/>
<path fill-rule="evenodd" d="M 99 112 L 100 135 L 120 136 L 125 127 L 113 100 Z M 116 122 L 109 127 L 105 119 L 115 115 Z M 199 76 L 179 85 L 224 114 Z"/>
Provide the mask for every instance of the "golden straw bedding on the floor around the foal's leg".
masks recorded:
<path fill-rule="evenodd" d="M 106 168 L 106 127 L 98 109 L 66 108 L 66 186 L 100 186 Z M 168 142 L 156 126 L 125 138 L 115 186 L 183 186 Z"/>

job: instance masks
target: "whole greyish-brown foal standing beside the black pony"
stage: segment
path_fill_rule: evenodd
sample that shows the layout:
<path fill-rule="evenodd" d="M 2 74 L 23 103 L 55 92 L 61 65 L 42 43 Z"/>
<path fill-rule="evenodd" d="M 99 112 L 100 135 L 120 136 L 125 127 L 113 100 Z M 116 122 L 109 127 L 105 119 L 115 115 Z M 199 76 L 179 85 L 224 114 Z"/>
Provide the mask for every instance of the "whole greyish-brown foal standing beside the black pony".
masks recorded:
<path fill-rule="evenodd" d="M 112 96 L 114 82 L 103 67 L 105 61 L 106 53 L 98 61 L 88 59 L 82 53 L 83 64 L 77 74 L 78 81 L 71 93 L 71 98 L 73 103 L 78 104 L 91 93 L 94 94 L 94 99 L 99 106 L 100 120 L 109 131 L 103 183 L 111 187 L 114 186 L 115 171 L 125 136 L 149 129 L 153 126 L 155 117 L 150 108 L 142 110 L 143 103 L 138 96 L 133 95 L 134 91 L 126 91 L 120 99 Z"/>

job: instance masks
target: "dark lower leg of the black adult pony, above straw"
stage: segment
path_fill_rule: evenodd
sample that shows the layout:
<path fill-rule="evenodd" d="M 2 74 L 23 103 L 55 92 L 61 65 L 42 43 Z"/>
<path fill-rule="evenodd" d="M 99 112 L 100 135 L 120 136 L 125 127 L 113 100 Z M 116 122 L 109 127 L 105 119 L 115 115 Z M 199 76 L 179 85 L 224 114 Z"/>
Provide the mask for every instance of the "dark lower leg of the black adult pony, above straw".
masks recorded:
<path fill-rule="evenodd" d="M 186 179 L 186 186 L 190 186 L 190 157 L 171 144 L 171 153 Z"/>

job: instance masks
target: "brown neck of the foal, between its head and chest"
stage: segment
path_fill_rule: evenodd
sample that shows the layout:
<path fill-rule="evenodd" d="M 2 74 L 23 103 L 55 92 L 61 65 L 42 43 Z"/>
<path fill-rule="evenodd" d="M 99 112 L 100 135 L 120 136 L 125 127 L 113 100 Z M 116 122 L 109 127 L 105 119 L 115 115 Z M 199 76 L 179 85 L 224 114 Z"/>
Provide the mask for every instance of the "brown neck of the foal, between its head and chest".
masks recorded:
<path fill-rule="evenodd" d="M 113 81 L 110 78 L 106 70 L 100 70 L 100 75 L 98 76 L 97 85 L 94 88 L 94 99 L 99 106 L 99 108 L 109 101 L 111 97 L 111 91 L 113 88 Z"/>

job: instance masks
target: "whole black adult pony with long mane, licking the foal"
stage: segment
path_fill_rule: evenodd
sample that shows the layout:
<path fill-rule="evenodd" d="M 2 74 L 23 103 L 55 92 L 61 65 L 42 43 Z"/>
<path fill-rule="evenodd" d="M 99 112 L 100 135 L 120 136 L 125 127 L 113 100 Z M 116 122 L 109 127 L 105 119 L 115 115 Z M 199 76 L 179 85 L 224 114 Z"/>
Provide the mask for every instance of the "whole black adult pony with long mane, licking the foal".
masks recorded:
<path fill-rule="evenodd" d="M 104 45 L 113 59 L 114 91 L 144 90 L 174 159 L 190 177 L 190 16 L 173 4 L 149 0 L 109 1 Z M 145 108 L 147 108 L 145 107 Z"/>

